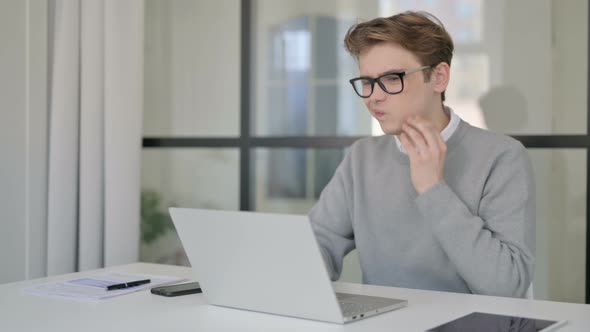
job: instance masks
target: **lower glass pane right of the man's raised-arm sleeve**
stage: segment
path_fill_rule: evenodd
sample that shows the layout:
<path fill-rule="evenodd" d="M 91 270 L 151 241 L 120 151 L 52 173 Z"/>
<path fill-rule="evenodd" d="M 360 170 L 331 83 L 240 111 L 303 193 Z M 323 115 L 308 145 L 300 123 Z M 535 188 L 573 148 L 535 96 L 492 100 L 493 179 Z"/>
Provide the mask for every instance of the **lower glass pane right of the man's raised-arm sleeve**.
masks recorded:
<path fill-rule="evenodd" d="M 537 181 L 535 299 L 585 303 L 586 151 L 529 154 Z"/>

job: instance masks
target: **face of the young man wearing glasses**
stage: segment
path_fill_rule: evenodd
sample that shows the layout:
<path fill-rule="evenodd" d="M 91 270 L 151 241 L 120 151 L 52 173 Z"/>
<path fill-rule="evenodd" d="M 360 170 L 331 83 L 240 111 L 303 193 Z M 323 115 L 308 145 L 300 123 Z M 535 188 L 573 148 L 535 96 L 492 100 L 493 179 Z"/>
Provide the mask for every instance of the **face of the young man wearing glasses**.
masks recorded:
<path fill-rule="evenodd" d="M 422 65 L 412 53 L 394 43 L 374 45 L 359 56 L 360 76 L 363 77 L 377 78 L 384 73 L 402 72 Z M 435 96 L 432 83 L 424 81 L 422 71 L 406 75 L 403 80 L 404 89 L 399 94 L 388 94 L 375 83 L 373 94 L 363 99 L 386 134 L 400 134 L 402 124 L 409 116 L 428 118 L 430 115 Z"/>

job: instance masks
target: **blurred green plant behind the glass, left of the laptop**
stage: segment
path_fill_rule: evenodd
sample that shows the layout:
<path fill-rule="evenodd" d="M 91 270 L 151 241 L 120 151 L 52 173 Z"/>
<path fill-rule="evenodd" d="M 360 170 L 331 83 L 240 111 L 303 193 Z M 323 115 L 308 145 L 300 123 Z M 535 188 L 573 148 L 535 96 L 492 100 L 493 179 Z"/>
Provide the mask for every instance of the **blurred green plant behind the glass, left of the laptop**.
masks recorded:
<path fill-rule="evenodd" d="M 149 244 L 168 230 L 175 230 L 170 215 L 162 212 L 160 194 L 153 190 L 141 192 L 141 241 Z"/>

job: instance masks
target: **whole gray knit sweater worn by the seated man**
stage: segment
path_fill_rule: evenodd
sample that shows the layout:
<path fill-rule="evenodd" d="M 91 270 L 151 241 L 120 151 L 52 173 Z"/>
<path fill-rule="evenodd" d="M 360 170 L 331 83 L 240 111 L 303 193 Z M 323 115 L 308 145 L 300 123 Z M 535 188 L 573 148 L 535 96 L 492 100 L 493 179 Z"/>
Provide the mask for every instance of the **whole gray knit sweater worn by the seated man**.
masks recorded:
<path fill-rule="evenodd" d="M 444 180 L 418 195 L 393 136 L 355 142 L 310 211 L 328 273 L 357 249 L 363 282 L 522 297 L 535 260 L 535 186 L 518 141 L 461 121 Z"/>

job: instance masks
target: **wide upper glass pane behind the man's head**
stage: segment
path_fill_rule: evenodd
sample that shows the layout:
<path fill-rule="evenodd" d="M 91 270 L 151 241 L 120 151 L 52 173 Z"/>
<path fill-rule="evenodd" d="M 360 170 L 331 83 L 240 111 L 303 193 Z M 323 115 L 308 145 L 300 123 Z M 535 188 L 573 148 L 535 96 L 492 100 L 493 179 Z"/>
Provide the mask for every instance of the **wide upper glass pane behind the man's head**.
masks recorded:
<path fill-rule="evenodd" d="M 253 8 L 254 135 L 381 134 L 348 84 L 358 68 L 343 37 L 357 18 L 405 10 L 433 13 L 452 35 L 446 104 L 464 120 L 507 134 L 587 131 L 587 1 L 257 0 Z"/>

